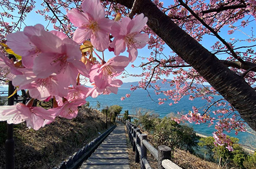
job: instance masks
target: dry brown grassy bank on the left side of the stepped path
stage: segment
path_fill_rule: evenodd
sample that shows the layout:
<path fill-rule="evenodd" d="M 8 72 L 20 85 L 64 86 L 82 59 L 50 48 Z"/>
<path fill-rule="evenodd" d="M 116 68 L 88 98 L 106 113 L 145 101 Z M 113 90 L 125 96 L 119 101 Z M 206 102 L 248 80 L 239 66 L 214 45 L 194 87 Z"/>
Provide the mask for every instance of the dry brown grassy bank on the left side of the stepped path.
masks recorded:
<path fill-rule="evenodd" d="M 14 128 L 15 168 L 52 168 L 104 132 L 105 117 L 81 108 L 75 119 L 57 118 L 38 131 L 25 123 Z M 4 144 L 0 145 L 0 168 L 5 166 Z"/>

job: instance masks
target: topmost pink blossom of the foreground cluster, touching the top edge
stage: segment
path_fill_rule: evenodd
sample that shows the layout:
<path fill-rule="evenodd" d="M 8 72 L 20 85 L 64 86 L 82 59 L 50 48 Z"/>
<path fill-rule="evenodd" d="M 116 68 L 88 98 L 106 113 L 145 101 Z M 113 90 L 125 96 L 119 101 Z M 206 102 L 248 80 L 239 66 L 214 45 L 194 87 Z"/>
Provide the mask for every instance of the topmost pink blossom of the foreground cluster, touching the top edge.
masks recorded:
<path fill-rule="evenodd" d="M 98 50 L 109 47 L 109 34 L 113 21 L 105 18 L 105 12 L 98 0 L 82 2 L 83 13 L 78 9 L 71 9 L 68 17 L 72 24 L 78 27 L 73 39 L 78 44 L 91 39 L 92 45 Z"/>

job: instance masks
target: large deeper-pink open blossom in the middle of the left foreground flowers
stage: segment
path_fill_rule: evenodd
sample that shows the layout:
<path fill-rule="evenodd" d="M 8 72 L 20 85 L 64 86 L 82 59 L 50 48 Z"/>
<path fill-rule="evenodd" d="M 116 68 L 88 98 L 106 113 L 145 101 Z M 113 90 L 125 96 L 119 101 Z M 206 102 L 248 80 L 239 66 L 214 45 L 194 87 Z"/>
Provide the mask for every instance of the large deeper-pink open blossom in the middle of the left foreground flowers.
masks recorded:
<path fill-rule="evenodd" d="M 41 51 L 33 65 L 33 72 L 38 78 L 47 78 L 56 73 L 69 82 L 69 85 L 75 85 L 78 72 L 88 74 L 86 66 L 80 61 L 79 45 L 73 40 L 60 39 L 42 30 L 41 35 L 33 36 L 31 41 Z"/>

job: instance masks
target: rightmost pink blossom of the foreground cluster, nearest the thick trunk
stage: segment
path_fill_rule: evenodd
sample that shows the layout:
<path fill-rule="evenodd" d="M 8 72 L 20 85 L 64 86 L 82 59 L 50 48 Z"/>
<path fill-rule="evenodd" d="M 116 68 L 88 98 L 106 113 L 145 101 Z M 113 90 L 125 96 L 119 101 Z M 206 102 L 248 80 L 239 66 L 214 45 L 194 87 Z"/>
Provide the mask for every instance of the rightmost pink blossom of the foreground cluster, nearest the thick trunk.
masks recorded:
<path fill-rule="evenodd" d="M 110 47 L 115 48 L 115 55 L 124 52 L 127 46 L 130 61 L 134 62 L 138 55 L 137 49 L 143 48 L 149 41 L 147 34 L 140 34 L 147 20 L 144 14 L 139 14 L 133 19 L 126 17 L 113 24 L 111 34 L 115 39 L 110 44 Z"/>

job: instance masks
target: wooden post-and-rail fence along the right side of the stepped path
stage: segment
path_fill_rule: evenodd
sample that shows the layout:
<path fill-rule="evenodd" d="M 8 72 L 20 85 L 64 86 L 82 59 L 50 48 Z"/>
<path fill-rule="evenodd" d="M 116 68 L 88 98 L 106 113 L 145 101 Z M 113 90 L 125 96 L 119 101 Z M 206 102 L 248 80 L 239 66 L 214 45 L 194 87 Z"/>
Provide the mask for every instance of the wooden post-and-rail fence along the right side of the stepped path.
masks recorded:
<path fill-rule="evenodd" d="M 125 121 L 124 118 L 121 118 L 121 121 Z M 141 169 L 151 168 L 147 161 L 147 150 L 155 157 L 158 162 L 158 169 L 181 169 L 177 164 L 170 161 L 171 158 L 171 149 L 166 145 L 159 145 L 158 150 L 155 149 L 147 141 L 147 134 L 140 132 L 140 129 L 137 128 L 134 124 L 129 121 L 125 121 L 127 132 L 129 135 L 129 140 L 132 145 L 132 151 L 135 152 L 135 162 L 140 163 Z"/>

